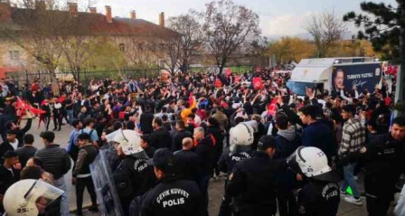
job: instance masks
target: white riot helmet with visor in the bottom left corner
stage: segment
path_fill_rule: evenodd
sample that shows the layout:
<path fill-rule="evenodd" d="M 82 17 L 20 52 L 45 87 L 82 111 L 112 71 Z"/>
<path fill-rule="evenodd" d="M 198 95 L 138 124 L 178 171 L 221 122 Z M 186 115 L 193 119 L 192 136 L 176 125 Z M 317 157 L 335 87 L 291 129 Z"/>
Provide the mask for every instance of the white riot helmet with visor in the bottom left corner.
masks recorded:
<path fill-rule="evenodd" d="M 21 180 L 5 192 L 5 213 L 7 216 L 37 216 L 62 193 L 61 189 L 42 180 Z"/>

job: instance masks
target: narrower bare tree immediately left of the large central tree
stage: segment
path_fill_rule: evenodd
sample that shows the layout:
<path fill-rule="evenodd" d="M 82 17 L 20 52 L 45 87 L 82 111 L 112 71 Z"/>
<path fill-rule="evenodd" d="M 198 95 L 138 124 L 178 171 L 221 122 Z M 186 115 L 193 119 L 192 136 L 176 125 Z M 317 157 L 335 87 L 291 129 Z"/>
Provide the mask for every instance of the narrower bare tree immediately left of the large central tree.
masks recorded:
<path fill-rule="evenodd" d="M 202 24 L 199 23 L 197 13 L 191 10 L 189 14 L 170 17 L 168 28 L 180 34 L 180 37 L 175 37 L 179 40 L 181 51 L 179 65 L 181 70 L 186 71 L 193 52 L 203 44 Z"/>

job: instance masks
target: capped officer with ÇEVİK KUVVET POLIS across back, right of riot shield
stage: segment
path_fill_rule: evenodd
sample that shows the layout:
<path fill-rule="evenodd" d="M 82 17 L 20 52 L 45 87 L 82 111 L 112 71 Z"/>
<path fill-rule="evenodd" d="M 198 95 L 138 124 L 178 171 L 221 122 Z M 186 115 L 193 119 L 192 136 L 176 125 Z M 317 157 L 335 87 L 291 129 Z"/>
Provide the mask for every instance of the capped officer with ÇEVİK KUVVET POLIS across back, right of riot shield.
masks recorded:
<path fill-rule="evenodd" d="M 156 150 L 150 162 L 159 183 L 143 196 L 140 215 L 202 215 L 200 190 L 195 182 L 183 180 L 175 174 L 174 154 L 161 148 Z"/>

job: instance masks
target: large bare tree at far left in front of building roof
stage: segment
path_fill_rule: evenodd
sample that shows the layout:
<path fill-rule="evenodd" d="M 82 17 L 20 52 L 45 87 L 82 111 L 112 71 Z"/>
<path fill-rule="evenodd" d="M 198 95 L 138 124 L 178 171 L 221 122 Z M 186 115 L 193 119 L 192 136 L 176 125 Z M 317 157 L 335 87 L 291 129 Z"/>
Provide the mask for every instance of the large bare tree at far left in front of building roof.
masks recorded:
<path fill-rule="evenodd" d="M 21 47 L 30 57 L 27 61 L 39 62 L 42 69 L 50 73 L 52 90 L 59 95 L 55 70 L 61 61 L 61 35 L 67 33 L 69 14 L 59 13 L 60 5 L 53 0 L 18 0 L 11 5 L 7 5 L 9 2 L 2 4 L 5 4 L 3 8 L 9 8 L 10 14 L 2 23 L 0 34 Z"/>

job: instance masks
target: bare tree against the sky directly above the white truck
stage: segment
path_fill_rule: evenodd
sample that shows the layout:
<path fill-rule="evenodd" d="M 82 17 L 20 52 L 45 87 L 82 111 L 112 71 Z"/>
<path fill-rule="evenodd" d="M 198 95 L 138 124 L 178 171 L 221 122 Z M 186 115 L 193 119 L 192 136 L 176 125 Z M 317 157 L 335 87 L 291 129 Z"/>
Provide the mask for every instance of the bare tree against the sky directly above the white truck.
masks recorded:
<path fill-rule="evenodd" d="M 306 25 L 306 31 L 314 37 L 318 58 L 324 58 L 334 42 L 342 39 L 346 31 L 343 20 L 334 12 L 314 15 Z"/>

